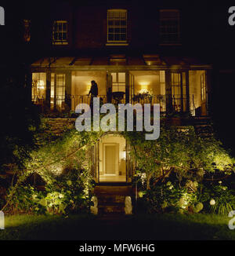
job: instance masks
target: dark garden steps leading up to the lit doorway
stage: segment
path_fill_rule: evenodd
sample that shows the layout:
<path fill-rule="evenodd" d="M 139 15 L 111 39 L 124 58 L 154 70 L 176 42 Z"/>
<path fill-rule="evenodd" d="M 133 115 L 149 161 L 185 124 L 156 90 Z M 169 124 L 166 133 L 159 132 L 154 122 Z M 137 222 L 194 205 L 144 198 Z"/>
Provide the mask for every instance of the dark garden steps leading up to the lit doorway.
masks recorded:
<path fill-rule="evenodd" d="M 96 185 L 94 192 L 99 215 L 124 215 L 125 197 L 133 198 L 132 186 L 129 185 Z"/>

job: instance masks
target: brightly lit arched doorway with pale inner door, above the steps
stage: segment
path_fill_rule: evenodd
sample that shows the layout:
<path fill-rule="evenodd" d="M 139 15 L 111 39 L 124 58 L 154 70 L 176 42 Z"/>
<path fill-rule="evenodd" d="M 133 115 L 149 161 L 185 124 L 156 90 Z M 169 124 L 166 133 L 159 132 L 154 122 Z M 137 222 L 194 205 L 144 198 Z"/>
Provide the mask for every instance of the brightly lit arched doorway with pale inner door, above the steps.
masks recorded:
<path fill-rule="evenodd" d="M 128 145 L 118 134 L 104 135 L 92 150 L 92 173 L 96 182 L 130 182 L 132 167 Z"/>

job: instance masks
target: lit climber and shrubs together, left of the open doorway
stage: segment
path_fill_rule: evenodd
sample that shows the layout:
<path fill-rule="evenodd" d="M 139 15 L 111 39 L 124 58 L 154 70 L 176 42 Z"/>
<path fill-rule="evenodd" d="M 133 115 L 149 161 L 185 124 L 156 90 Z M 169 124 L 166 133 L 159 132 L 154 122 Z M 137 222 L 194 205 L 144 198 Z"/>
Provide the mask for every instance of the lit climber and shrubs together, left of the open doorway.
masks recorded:
<path fill-rule="evenodd" d="M 9 188 L 6 209 L 61 214 L 86 209 L 92 190 L 89 148 L 101 134 L 69 130 L 56 140 L 38 135 L 38 149 L 31 152 L 24 162 L 27 169 L 16 173 L 16 184 Z M 46 193 L 25 188 L 31 174 L 42 177 Z"/>

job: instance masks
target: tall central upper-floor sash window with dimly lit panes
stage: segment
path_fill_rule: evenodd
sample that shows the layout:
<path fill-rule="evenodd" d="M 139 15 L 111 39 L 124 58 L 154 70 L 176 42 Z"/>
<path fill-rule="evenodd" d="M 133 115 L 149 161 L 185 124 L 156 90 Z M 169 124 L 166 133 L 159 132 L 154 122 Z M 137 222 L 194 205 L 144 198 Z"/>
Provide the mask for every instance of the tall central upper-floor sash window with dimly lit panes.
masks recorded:
<path fill-rule="evenodd" d="M 107 42 L 127 42 L 127 10 L 109 9 L 107 11 Z"/>

